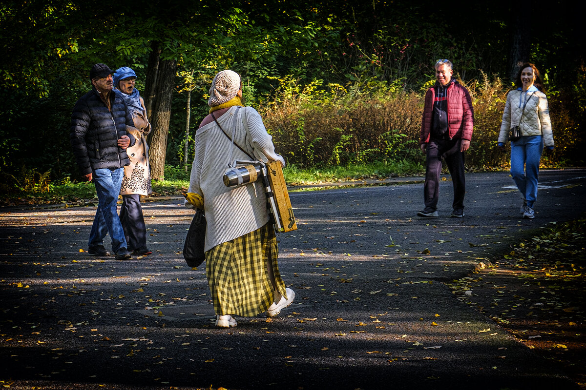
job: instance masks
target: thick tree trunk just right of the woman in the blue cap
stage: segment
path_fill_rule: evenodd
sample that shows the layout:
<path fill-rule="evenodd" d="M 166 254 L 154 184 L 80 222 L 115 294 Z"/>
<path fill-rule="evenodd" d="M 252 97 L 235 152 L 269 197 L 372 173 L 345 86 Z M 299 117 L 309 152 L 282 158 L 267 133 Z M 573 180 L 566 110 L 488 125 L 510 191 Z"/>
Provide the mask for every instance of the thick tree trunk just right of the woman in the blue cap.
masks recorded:
<path fill-rule="evenodd" d="M 175 60 L 159 61 L 156 88 L 153 91 L 156 98 L 152 105 L 152 137 L 149 149 L 151 177 L 155 180 L 165 178 L 165 155 L 176 70 L 177 62 Z"/>

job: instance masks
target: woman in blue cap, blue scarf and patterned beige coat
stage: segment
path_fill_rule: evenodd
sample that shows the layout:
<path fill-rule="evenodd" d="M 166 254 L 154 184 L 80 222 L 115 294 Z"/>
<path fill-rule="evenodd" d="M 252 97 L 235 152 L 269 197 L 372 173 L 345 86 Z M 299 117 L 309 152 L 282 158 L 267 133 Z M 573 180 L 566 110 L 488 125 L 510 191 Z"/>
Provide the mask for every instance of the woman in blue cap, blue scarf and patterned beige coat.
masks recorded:
<path fill-rule="evenodd" d="M 131 68 L 121 67 L 114 73 L 114 89 L 121 94 L 132 113 L 134 127 L 127 131 L 137 141 L 127 149 L 130 165 L 124 167 L 122 177 L 122 206 L 120 222 L 128 243 L 128 251 L 135 256 L 146 256 L 152 252 L 147 248 L 147 226 L 142 216 L 141 195 L 149 195 L 151 189 L 151 171 L 148 163 L 148 145 L 146 136 L 151 132 L 151 124 L 147 119 L 145 103 L 134 87 L 137 75 Z"/>

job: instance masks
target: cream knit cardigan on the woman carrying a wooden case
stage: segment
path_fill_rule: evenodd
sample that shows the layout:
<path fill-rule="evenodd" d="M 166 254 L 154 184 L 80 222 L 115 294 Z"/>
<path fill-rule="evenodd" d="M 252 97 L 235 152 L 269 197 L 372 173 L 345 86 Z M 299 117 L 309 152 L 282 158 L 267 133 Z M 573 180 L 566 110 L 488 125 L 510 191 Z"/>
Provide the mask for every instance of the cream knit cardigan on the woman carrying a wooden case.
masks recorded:
<path fill-rule="evenodd" d="M 233 123 L 236 125 L 234 140 L 251 156 L 264 162 L 279 160 L 285 165 L 284 159 L 275 153 L 272 137 L 254 108 L 237 110 L 236 106 L 232 106 L 217 121 L 230 137 Z M 231 153 L 232 143 L 216 122 L 207 123 L 197 130 L 189 192 L 203 196 L 207 222 L 205 251 L 254 232 L 268 222 L 267 197 L 261 180 L 237 188 L 224 185 L 222 177 L 228 170 Z M 234 146 L 233 160 L 248 161 L 250 158 Z M 187 201 L 185 206 L 193 208 Z"/>

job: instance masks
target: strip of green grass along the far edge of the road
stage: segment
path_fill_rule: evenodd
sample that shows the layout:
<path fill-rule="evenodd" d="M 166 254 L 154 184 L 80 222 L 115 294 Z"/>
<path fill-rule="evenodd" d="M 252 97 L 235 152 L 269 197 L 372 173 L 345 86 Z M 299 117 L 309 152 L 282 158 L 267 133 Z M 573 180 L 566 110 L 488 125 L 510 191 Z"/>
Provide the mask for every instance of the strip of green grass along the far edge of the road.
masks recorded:
<path fill-rule="evenodd" d="M 340 181 L 358 181 L 393 176 L 420 174 L 424 171 L 421 164 L 409 161 L 397 163 L 373 163 L 349 165 L 347 167 L 323 167 L 301 169 L 288 165 L 284 169 L 285 181 L 289 185 L 319 184 Z M 222 180 L 222 178 L 218 178 Z M 180 195 L 189 188 L 189 172 L 183 168 L 165 167 L 165 180 L 152 182 L 152 196 Z M 14 189 L 0 196 L 0 205 L 35 205 L 47 203 L 67 203 L 83 205 L 96 203 L 96 188 L 90 182 L 73 183 L 66 178 L 62 182 L 49 184 L 48 191 L 35 192 Z"/>

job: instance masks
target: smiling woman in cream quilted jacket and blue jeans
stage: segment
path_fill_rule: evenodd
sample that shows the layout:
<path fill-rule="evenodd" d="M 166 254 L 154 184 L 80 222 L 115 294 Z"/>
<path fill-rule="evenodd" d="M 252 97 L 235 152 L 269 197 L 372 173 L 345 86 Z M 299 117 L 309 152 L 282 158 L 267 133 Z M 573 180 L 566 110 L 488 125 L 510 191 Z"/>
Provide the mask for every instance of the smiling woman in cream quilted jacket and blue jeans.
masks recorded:
<path fill-rule="evenodd" d="M 505 150 L 511 141 L 511 175 L 523 196 L 520 213 L 523 218 L 535 218 L 533 204 L 537 199 L 537 176 L 543 144 L 554 149 L 553 132 L 547 96 L 539 70 L 532 63 L 523 64 L 515 80 L 517 89 L 507 94 L 503 121 L 500 125 L 498 146 Z M 519 128 L 515 137 L 512 129 Z M 509 132 L 512 136 L 509 136 Z"/>

